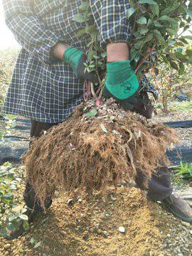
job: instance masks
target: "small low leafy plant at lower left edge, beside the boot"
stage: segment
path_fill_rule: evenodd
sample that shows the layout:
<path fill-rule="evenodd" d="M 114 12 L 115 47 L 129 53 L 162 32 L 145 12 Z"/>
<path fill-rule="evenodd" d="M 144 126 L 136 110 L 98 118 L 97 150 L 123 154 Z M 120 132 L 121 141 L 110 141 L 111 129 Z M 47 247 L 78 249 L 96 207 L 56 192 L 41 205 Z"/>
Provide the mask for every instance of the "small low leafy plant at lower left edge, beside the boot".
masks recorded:
<path fill-rule="evenodd" d="M 25 230 L 29 228 L 27 209 L 21 205 L 22 197 L 16 195 L 24 181 L 23 175 L 22 167 L 18 169 L 10 163 L 0 166 L 0 235 L 4 238 L 9 231 L 17 230 L 21 221 Z"/>

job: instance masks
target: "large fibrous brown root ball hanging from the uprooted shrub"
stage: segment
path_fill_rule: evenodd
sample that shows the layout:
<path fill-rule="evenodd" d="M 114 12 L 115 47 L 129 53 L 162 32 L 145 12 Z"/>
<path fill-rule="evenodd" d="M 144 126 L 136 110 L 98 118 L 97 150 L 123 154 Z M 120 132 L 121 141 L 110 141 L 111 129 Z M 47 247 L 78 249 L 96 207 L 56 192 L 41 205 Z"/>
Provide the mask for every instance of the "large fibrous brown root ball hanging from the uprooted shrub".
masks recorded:
<path fill-rule="evenodd" d="M 132 183 L 136 169 L 151 172 L 166 163 L 173 132 L 162 124 L 119 109 L 113 100 L 80 105 L 62 124 L 34 141 L 25 157 L 26 174 L 43 203 L 65 188 L 100 188 Z M 145 186 L 147 186 L 145 184 Z"/>

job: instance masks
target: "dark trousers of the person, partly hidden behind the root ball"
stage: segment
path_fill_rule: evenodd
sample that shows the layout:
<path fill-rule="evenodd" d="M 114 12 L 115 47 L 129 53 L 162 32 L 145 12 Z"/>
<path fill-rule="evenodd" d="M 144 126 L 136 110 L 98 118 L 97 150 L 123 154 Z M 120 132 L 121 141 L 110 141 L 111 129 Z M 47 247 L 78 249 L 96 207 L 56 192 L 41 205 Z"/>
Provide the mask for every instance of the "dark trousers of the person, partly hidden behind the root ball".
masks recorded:
<path fill-rule="evenodd" d="M 46 124 L 31 120 L 31 137 L 40 137 L 44 131 L 48 130 L 54 125 L 57 124 Z M 165 198 L 171 196 L 171 193 L 173 192 L 170 174 L 166 166 L 162 166 L 161 168 L 156 170 L 155 173 L 152 174 L 150 179 L 147 178 L 147 176 L 144 176 L 144 173 L 142 171 L 137 170 L 137 186 L 143 189 L 144 182 L 148 183 L 147 196 L 153 201 L 163 201 Z M 38 201 L 38 198 L 36 198 L 36 193 L 30 183 L 26 183 L 26 189 L 24 191 L 23 197 L 26 206 L 28 206 L 29 208 L 33 208 L 34 210 L 37 210 L 39 212 L 43 212 L 41 204 Z M 51 198 L 50 196 L 48 196 L 45 202 L 46 208 L 48 208 L 51 203 Z"/>

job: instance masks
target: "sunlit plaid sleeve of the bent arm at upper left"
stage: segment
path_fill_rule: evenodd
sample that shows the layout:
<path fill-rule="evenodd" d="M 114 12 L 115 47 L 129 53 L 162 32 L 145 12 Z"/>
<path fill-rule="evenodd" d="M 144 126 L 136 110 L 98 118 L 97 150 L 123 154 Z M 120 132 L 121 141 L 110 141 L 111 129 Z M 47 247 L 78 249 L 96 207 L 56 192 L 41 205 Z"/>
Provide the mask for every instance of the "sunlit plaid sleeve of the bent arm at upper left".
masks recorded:
<path fill-rule="evenodd" d="M 28 53 L 44 63 L 58 62 L 53 47 L 59 36 L 46 29 L 33 12 L 31 0 L 3 0 L 6 25 Z"/>

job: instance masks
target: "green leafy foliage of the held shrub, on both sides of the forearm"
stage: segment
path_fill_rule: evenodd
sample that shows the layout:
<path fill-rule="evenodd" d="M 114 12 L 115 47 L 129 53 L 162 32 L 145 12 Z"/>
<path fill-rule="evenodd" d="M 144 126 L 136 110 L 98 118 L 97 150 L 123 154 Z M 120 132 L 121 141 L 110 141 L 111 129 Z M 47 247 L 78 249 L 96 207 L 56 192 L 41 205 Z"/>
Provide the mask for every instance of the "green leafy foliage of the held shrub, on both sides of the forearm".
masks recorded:
<path fill-rule="evenodd" d="M 137 75 L 142 76 L 161 63 L 166 63 L 183 74 L 185 65 L 192 63 L 192 49 L 188 46 L 192 35 L 185 34 L 191 26 L 192 2 L 130 0 L 129 4 L 127 19 L 131 24 L 131 36 L 127 43 L 132 67 Z M 88 62 L 85 64 L 87 71 L 105 71 L 106 52 L 100 47 L 100 38 L 88 0 L 82 2 L 74 20 L 86 23 L 86 27 L 77 36 L 86 36 L 89 41 Z"/>

